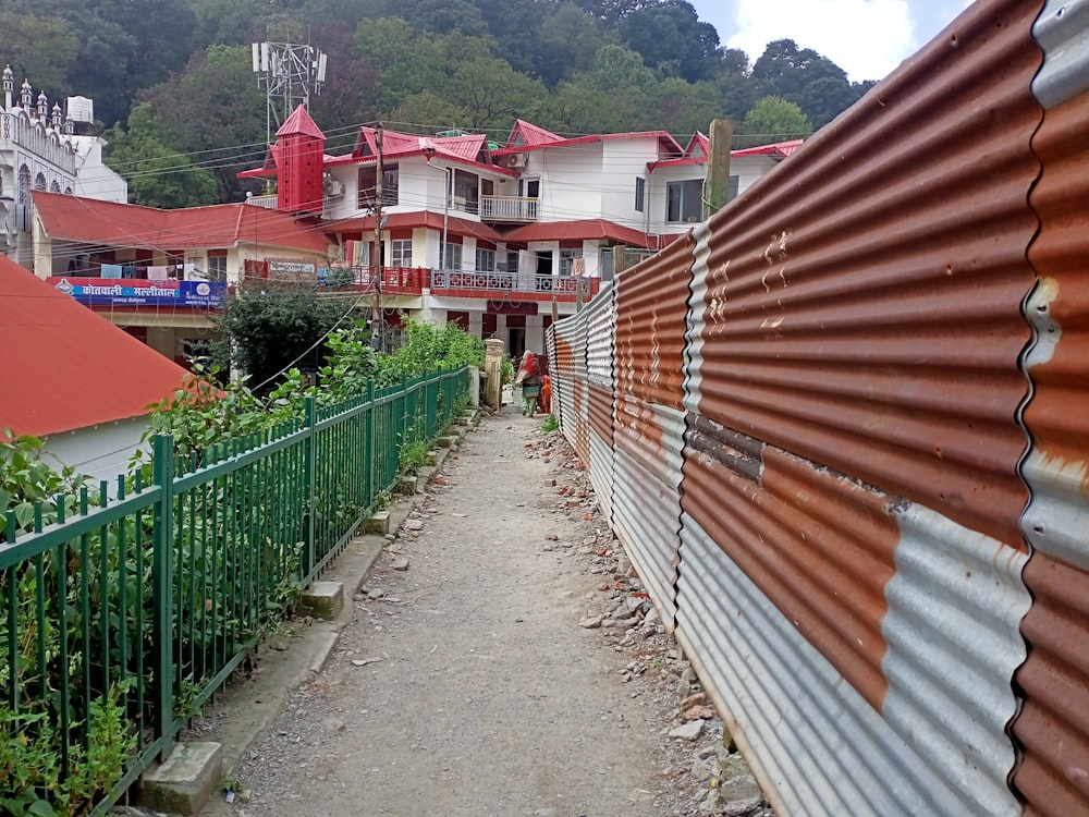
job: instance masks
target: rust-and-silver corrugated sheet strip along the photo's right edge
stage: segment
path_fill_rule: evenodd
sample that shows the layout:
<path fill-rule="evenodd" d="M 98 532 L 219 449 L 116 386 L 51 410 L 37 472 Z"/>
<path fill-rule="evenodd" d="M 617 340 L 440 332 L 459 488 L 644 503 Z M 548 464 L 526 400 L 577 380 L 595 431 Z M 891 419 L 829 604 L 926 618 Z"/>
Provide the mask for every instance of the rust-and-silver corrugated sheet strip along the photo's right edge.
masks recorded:
<path fill-rule="evenodd" d="M 1045 59 L 1032 89 L 1047 110 L 1032 139 L 1042 172 L 1028 259 L 1039 284 L 1025 304 L 1036 343 L 1025 355 L 1032 448 L 1021 466 L 1033 605 L 1013 785 L 1027 814 L 1060 817 L 1089 814 L 1089 3 L 1049 2 L 1035 33 Z"/>

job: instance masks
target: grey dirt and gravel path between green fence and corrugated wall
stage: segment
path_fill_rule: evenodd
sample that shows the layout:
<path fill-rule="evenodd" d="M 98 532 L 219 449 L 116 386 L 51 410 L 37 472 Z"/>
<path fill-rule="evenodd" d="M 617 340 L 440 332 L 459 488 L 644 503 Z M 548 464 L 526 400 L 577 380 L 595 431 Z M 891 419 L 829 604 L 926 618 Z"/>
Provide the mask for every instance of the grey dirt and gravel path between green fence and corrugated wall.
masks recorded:
<path fill-rule="evenodd" d="M 234 770 L 234 814 L 722 813 L 698 807 L 721 724 L 666 734 L 690 672 L 541 422 L 507 406 L 448 459 L 326 669 Z"/>

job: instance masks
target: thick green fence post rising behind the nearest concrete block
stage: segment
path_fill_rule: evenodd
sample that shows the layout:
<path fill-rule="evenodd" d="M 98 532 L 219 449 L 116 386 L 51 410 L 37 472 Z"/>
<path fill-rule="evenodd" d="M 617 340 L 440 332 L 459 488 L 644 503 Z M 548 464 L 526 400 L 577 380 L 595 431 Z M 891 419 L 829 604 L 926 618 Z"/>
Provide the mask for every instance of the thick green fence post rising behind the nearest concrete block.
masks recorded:
<path fill-rule="evenodd" d="M 155 584 L 155 618 L 151 623 L 151 638 L 156 653 L 155 664 L 155 736 L 162 739 L 159 759 L 166 760 L 174 745 L 174 633 L 171 624 L 173 600 L 173 570 L 171 549 L 173 548 L 174 509 L 174 438 L 156 435 L 152 440 L 152 474 L 159 489 L 155 504 L 152 527 L 154 554 L 151 576 Z"/>

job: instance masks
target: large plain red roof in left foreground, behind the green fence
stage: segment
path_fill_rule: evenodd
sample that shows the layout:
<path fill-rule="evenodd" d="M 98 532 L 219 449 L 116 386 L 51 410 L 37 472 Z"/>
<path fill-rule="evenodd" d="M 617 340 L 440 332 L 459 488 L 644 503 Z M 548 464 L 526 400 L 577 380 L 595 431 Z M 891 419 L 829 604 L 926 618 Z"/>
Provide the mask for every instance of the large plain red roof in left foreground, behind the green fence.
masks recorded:
<path fill-rule="evenodd" d="M 147 414 L 183 369 L 0 256 L 0 427 L 42 435 Z"/>

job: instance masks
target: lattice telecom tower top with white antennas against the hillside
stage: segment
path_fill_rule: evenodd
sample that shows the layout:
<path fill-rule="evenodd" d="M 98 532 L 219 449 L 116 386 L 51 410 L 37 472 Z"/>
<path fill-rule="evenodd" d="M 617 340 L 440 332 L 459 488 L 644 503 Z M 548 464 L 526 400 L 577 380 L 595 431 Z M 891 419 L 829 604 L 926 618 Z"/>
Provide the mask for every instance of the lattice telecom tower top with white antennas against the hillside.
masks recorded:
<path fill-rule="evenodd" d="M 274 42 L 268 32 L 266 36 L 264 42 L 254 42 L 250 49 L 257 85 L 265 88 L 266 142 L 271 145 L 272 134 L 280 130 L 295 107 L 302 105 L 309 110 L 310 95 L 321 94 L 328 54 L 310 45 L 309 31 L 306 45 Z M 289 34 L 283 39 L 292 37 Z"/>

